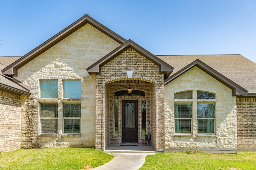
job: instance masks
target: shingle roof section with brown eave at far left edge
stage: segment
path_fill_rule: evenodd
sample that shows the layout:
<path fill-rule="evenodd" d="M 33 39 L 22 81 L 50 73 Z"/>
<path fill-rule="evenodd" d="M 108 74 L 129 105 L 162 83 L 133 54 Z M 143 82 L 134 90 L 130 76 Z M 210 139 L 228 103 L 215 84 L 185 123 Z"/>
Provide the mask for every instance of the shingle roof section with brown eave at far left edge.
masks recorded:
<path fill-rule="evenodd" d="M 2 75 L 1 70 L 14 63 L 21 57 L 0 57 L 0 88 L 11 90 L 18 93 L 30 94 L 29 89 L 23 88 L 14 78 Z"/>

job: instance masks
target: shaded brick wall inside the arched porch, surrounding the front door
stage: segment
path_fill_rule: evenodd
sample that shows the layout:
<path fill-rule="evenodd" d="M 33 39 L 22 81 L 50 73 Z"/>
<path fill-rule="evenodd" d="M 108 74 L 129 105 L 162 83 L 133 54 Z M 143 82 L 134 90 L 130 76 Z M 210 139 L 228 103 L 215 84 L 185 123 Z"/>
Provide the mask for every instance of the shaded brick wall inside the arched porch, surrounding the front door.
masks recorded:
<path fill-rule="evenodd" d="M 146 96 L 114 96 L 114 92 L 126 90 L 128 85 L 131 85 L 132 90 L 141 90 L 146 92 Z M 122 143 L 122 100 L 138 100 L 138 143 L 142 144 L 145 137 L 142 137 L 142 102 L 146 100 L 146 133 L 151 133 L 151 100 L 150 100 L 150 83 L 140 80 L 119 80 L 109 84 L 110 86 L 110 109 L 109 109 L 109 136 L 110 144 Z M 114 100 L 118 100 L 118 136 L 114 136 Z"/>

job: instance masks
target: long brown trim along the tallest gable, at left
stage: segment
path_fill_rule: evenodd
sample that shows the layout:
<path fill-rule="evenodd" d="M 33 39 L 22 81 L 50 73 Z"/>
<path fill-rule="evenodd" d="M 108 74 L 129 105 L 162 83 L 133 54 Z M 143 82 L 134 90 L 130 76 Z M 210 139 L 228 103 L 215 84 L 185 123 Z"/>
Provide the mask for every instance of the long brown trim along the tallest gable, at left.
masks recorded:
<path fill-rule="evenodd" d="M 108 29 L 107 27 L 105 27 L 104 25 L 99 23 L 98 21 L 91 18 L 88 14 L 86 14 L 86 15 L 82 16 L 82 18 L 80 18 L 79 20 L 75 21 L 74 23 L 72 23 L 71 25 L 69 25 L 68 27 L 66 27 L 65 29 L 63 29 L 62 31 L 57 33 L 56 35 L 54 35 L 52 38 L 48 39 L 47 41 L 45 41 L 44 43 L 42 43 L 41 45 L 39 45 L 32 51 L 30 51 L 29 53 L 24 55 L 22 58 L 18 59 L 14 63 L 12 63 L 9 66 L 7 66 L 6 68 L 4 68 L 2 70 L 2 74 L 17 76 L 18 75 L 17 70 L 19 68 L 24 66 L 26 63 L 32 61 L 33 59 L 38 57 L 38 55 L 44 53 L 46 50 L 50 49 L 52 46 L 56 45 L 57 43 L 59 43 L 60 41 L 62 41 L 66 37 L 68 37 L 70 34 L 77 31 L 82 26 L 86 25 L 87 23 L 89 23 L 90 25 L 92 25 L 93 27 L 95 27 L 96 29 L 101 31 L 102 33 L 108 35 L 110 38 L 114 39 L 116 42 L 118 42 L 120 44 L 122 44 L 126 41 L 126 39 L 124 39 L 120 35 L 114 33 L 113 31 L 111 31 L 110 29 Z"/>

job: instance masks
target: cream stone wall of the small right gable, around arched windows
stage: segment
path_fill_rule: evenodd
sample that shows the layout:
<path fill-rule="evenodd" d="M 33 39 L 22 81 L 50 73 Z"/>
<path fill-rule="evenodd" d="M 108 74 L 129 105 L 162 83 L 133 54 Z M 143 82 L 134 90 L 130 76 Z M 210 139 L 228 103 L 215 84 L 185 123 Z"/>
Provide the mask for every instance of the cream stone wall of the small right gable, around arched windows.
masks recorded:
<path fill-rule="evenodd" d="M 197 133 L 197 99 L 192 105 L 192 134 L 174 133 L 174 93 L 194 90 L 216 94 L 215 135 Z M 207 101 L 207 100 L 204 100 Z M 165 87 L 165 148 L 166 151 L 200 148 L 199 150 L 219 150 L 236 152 L 236 97 L 232 97 L 230 88 L 224 86 L 197 67 L 191 68 Z"/>

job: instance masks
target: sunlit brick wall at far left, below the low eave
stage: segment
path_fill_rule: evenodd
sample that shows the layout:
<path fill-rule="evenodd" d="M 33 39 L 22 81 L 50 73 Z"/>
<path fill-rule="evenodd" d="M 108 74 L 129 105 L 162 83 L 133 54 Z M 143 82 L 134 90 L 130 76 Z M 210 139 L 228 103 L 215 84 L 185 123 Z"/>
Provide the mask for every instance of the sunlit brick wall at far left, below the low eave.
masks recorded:
<path fill-rule="evenodd" d="M 20 149 L 20 96 L 0 90 L 0 151 Z"/>

